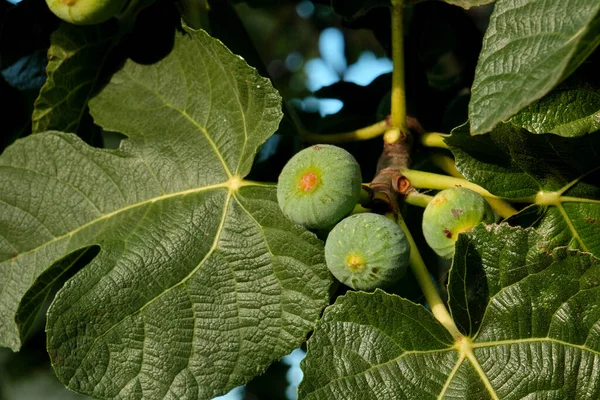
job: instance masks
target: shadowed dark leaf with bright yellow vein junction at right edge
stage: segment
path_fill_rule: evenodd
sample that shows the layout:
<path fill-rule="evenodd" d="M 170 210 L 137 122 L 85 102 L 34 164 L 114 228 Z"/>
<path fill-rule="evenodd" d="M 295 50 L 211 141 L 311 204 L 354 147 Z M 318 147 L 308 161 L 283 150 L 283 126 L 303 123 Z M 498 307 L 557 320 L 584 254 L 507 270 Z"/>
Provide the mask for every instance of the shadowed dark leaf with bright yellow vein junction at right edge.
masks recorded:
<path fill-rule="evenodd" d="M 498 196 L 536 203 L 532 226 L 552 246 L 600 255 L 600 134 L 534 135 L 508 123 L 475 137 L 463 125 L 445 140 L 469 181 Z M 525 211 L 528 219 L 531 211 Z"/>

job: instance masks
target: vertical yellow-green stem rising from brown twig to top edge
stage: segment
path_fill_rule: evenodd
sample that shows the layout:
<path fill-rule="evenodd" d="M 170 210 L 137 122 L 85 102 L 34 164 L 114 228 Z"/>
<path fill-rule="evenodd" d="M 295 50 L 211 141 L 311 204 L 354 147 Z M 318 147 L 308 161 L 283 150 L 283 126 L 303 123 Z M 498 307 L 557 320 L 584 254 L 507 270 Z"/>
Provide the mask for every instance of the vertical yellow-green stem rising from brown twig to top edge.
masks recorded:
<path fill-rule="evenodd" d="M 394 143 L 408 134 L 406 126 L 406 91 L 404 89 L 404 0 L 392 0 L 392 128 L 386 143 Z"/>

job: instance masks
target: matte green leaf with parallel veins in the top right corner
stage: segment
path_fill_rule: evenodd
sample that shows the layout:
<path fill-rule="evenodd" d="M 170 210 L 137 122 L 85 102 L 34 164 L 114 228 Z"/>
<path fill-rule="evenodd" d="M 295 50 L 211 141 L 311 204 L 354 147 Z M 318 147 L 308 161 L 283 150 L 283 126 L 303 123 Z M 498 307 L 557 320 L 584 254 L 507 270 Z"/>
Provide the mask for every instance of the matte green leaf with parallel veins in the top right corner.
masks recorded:
<path fill-rule="evenodd" d="M 481 134 L 548 93 L 600 44 L 596 0 L 499 0 L 469 104 Z"/>

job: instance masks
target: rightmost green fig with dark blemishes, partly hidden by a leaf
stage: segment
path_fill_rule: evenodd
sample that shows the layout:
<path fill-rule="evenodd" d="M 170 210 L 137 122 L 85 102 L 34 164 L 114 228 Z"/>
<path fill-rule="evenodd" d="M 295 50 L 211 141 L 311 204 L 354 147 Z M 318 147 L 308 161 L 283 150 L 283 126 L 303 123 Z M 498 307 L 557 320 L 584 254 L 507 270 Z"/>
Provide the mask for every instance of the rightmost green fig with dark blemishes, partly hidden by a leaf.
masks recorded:
<path fill-rule="evenodd" d="M 494 222 L 494 212 L 478 193 L 465 188 L 445 189 L 436 194 L 423 213 L 423 236 L 440 257 L 454 255 L 458 234 L 477 224 Z"/>

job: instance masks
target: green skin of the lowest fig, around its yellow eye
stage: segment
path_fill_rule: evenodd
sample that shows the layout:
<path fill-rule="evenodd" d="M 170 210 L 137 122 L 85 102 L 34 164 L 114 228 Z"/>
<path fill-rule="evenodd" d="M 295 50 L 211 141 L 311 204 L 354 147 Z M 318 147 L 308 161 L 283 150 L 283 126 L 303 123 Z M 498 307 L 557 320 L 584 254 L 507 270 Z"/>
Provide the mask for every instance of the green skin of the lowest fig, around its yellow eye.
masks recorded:
<path fill-rule="evenodd" d="M 364 260 L 360 271 L 348 267 L 351 256 Z M 355 290 L 385 288 L 406 273 L 410 244 L 400 227 L 388 218 L 372 213 L 343 219 L 325 242 L 327 267 L 340 282 Z"/>

